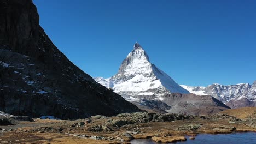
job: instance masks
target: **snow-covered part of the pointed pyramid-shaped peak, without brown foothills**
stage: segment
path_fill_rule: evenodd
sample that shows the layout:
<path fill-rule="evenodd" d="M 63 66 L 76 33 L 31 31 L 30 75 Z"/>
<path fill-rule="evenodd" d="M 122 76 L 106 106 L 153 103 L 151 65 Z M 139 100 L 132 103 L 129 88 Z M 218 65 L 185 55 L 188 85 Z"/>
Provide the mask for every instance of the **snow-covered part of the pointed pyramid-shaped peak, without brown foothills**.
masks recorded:
<path fill-rule="evenodd" d="M 138 43 L 135 43 L 116 75 L 108 79 L 96 77 L 95 80 L 130 101 L 141 98 L 161 100 L 166 93 L 189 93 L 150 63 L 146 51 Z"/>

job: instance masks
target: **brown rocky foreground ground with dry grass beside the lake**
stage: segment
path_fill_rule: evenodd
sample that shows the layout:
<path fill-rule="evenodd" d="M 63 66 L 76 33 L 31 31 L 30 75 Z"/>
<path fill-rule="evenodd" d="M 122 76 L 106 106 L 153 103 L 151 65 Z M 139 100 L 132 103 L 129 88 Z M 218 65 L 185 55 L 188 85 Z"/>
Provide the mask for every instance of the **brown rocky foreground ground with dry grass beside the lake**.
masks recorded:
<path fill-rule="evenodd" d="M 246 113 L 248 111 L 248 113 Z M 214 115 L 123 113 L 114 117 L 92 116 L 75 121 L 33 119 L 0 125 L 0 143 L 130 143 L 151 138 L 156 142 L 195 139 L 201 133 L 256 131 L 256 108 L 225 110 Z M 231 116 L 244 113 L 243 117 Z M 185 137 L 186 136 L 186 137 Z"/>

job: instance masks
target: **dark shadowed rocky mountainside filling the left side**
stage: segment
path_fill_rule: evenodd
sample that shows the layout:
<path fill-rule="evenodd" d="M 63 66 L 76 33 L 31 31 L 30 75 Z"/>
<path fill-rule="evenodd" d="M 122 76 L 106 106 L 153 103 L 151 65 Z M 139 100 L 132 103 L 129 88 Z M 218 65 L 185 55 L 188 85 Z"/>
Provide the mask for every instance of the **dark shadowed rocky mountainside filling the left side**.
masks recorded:
<path fill-rule="evenodd" d="M 0 111 L 85 118 L 139 109 L 98 84 L 51 42 L 32 0 L 0 1 Z"/>

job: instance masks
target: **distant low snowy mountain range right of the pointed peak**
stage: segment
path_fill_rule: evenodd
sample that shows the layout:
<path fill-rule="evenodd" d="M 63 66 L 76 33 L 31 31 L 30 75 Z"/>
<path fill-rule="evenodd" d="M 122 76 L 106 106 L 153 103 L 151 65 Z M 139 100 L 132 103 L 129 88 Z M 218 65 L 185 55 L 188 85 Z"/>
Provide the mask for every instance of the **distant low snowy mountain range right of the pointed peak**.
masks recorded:
<path fill-rule="evenodd" d="M 239 83 L 237 85 L 224 86 L 214 83 L 207 87 L 181 86 L 190 93 L 212 95 L 212 97 L 222 101 L 232 109 L 256 106 L 256 81 L 252 85 L 249 83 Z"/>

